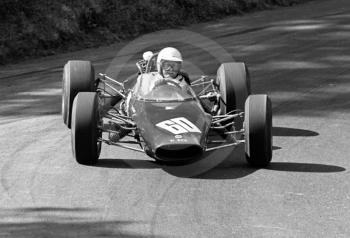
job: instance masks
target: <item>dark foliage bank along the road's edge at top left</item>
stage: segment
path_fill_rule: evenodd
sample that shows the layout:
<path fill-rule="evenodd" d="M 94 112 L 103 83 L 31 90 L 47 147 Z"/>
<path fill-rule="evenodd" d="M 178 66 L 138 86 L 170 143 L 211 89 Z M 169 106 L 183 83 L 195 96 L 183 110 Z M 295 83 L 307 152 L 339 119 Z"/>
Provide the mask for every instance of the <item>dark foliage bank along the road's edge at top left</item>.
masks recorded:
<path fill-rule="evenodd" d="M 0 64 L 307 0 L 2 0 Z"/>

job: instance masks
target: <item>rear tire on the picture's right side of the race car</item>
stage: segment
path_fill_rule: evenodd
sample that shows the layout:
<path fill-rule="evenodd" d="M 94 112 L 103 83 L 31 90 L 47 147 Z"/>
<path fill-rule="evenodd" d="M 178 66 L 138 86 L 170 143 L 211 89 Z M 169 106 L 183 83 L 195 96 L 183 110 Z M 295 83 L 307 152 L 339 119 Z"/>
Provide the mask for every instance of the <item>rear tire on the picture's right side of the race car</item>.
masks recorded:
<path fill-rule="evenodd" d="M 217 70 L 217 84 L 221 93 L 220 114 L 232 110 L 244 110 L 244 103 L 251 94 L 248 68 L 244 63 L 223 63 Z M 242 129 L 242 120 L 235 121 L 237 130 Z"/>

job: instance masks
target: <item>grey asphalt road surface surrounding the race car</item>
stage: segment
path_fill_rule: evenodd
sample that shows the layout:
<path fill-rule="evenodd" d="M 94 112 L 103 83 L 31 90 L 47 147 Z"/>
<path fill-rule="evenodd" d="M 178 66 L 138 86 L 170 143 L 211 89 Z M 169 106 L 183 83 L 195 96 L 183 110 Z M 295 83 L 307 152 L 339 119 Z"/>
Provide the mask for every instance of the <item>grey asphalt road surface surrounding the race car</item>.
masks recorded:
<path fill-rule="evenodd" d="M 134 43 L 178 46 L 192 75 L 230 57 L 248 64 L 253 92 L 273 102 L 271 165 L 249 168 L 238 147 L 169 168 L 108 146 L 97 166 L 78 165 L 60 115 L 62 66 L 88 59 L 123 78 L 136 70 L 134 43 L 2 66 L 0 237 L 350 237 L 350 2 L 157 34 Z"/>

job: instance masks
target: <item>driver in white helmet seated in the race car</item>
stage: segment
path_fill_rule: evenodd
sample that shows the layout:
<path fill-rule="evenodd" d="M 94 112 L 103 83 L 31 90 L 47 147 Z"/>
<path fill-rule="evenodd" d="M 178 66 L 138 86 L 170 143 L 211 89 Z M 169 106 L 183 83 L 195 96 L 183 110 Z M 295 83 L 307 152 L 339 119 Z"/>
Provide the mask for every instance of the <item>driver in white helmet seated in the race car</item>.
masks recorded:
<path fill-rule="evenodd" d="M 154 86 L 164 83 L 165 80 L 173 80 L 180 86 L 190 85 L 188 75 L 181 71 L 182 62 L 182 55 L 177 49 L 173 47 L 162 49 L 157 57 L 157 70 L 161 78 L 154 83 Z"/>

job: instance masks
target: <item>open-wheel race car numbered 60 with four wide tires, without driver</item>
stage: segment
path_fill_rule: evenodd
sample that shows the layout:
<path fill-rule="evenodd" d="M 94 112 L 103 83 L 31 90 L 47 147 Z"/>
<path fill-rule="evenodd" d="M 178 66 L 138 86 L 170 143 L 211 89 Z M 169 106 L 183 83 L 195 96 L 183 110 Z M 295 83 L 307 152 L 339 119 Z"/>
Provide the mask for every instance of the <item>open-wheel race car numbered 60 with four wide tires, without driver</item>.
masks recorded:
<path fill-rule="evenodd" d="M 147 52 L 136 63 L 130 88 L 106 74 L 95 77 L 89 61 L 65 64 L 62 115 L 78 163 L 96 164 L 103 143 L 169 164 L 199 160 L 214 150 L 220 156 L 220 149 L 244 143 L 251 166 L 270 163 L 271 101 L 251 94 L 244 63 L 222 63 L 216 77 L 202 76 L 190 85 L 169 79 L 155 85 L 157 55 Z"/>

